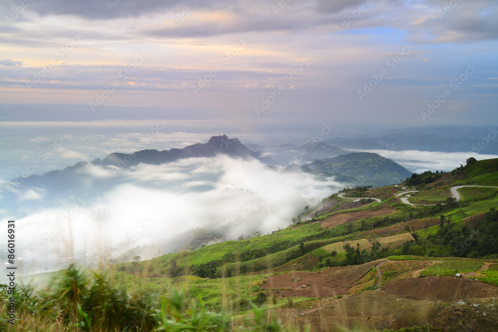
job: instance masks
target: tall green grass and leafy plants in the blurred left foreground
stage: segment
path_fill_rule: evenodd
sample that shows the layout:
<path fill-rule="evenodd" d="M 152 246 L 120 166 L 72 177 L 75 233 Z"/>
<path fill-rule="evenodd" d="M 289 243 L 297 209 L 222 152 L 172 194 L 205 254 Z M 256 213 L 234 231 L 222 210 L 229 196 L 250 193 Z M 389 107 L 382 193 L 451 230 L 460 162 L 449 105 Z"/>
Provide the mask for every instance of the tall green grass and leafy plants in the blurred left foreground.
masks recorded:
<path fill-rule="evenodd" d="M 36 292 L 21 284 L 15 290 L 15 321 L 8 324 L 6 288 L 0 287 L 0 331 L 117 332 L 117 331 L 295 331 L 284 327 L 264 308 L 234 319 L 227 311 L 205 308 L 186 288 L 172 289 L 162 301 L 141 289 L 128 293 L 116 289 L 105 271 L 85 271 L 69 266 L 49 287 Z"/>

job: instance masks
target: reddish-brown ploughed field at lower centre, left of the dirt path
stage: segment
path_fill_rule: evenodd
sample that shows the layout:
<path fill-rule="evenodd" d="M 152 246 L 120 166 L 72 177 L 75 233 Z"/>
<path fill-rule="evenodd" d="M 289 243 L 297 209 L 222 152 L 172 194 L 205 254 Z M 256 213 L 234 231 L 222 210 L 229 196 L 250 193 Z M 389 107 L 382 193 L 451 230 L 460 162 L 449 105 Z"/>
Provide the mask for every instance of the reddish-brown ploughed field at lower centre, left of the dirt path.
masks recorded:
<path fill-rule="evenodd" d="M 320 272 L 299 271 L 269 276 L 261 288 L 272 289 L 269 294 L 279 297 L 335 297 L 346 294 L 353 283 L 377 263 L 374 261 L 355 266 L 330 267 Z M 292 281 L 294 278 L 300 280 Z"/>

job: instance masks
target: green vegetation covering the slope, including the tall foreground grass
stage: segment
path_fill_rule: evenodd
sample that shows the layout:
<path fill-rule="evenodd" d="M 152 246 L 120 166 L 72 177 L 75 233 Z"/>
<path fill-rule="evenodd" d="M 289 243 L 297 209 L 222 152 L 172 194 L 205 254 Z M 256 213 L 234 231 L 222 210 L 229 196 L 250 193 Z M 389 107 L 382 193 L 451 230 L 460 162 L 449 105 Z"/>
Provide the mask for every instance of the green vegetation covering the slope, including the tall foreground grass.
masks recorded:
<path fill-rule="evenodd" d="M 297 220 L 305 215 L 313 219 L 268 235 L 255 231 L 251 238 L 240 236 L 236 241 L 151 260 L 133 255 L 130 262 L 111 265 L 107 272 L 102 264 L 98 271 L 70 266 L 43 290 L 18 287 L 14 326 L 6 323 L 7 294 L 0 288 L 0 330 L 294 331 L 282 326 L 277 319 L 282 316 L 275 312 L 311 312 L 333 304 L 332 310 L 341 306 L 335 301 L 345 301 L 351 294 L 344 290 L 328 299 L 294 297 L 290 294 L 296 287 L 315 292 L 316 286 L 313 281 L 291 284 L 287 272 L 307 270 L 313 278 L 333 275 L 339 283 L 344 270 L 339 267 L 379 259 L 390 262 L 382 261 L 381 267 L 377 262 L 354 267 L 358 275 L 351 277 L 356 280 L 352 294 L 368 295 L 379 282 L 384 287 L 408 274 L 416 278 L 418 273 L 425 277 L 472 272 L 473 278 L 498 286 L 497 188 L 462 188 L 463 199 L 458 202 L 448 196 L 455 185 L 498 186 L 497 165 L 498 160 L 469 159 L 466 166 L 452 172 L 414 174 L 400 184 L 416 186 L 420 192 L 413 199 L 419 202 L 444 204 L 414 207 L 399 202 L 392 188 L 356 187 L 345 189 L 345 196 L 382 201 L 353 203 L 332 195 L 326 199 L 329 210 L 313 213 L 313 206 L 303 207 L 305 214 L 296 216 Z M 327 222 L 330 227 L 325 226 Z M 421 260 L 431 262 L 404 262 Z M 329 267 L 337 274 L 323 271 Z M 273 285 L 267 284 L 272 277 L 282 275 L 289 276 L 284 286 L 268 287 Z M 333 286 L 330 281 L 326 287 Z M 397 331 L 433 330 L 407 327 Z"/>

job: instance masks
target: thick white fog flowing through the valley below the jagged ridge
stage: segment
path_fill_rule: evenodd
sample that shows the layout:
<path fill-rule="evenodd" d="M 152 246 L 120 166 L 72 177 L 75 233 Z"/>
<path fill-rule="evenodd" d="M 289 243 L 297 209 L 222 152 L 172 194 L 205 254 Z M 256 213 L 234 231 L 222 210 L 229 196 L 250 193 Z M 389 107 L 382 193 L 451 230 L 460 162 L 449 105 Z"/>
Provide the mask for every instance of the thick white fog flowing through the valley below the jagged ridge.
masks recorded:
<path fill-rule="evenodd" d="M 121 261 L 130 253 L 152 258 L 173 250 L 170 243 L 187 242 L 197 227 L 208 226 L 232 240 L 254 230 L 266 234 L 289 225 L 306 205 L 348 186 L 226 155 L 129 169 L 88 164 L 80 172 L 87 175 L 82 192 L 96 179 L 116 185 L 98 197 L 72 197 L 72 205 L 17 219 L 16 258 L 25 264 L 23 274 L 61 268 L 72 257 L 85 265 Z M 19 193 L 19 199 L 49 205 L 43 191 L 31 191 Z M 8 218 L 5 211 L 2 218 Z"/>

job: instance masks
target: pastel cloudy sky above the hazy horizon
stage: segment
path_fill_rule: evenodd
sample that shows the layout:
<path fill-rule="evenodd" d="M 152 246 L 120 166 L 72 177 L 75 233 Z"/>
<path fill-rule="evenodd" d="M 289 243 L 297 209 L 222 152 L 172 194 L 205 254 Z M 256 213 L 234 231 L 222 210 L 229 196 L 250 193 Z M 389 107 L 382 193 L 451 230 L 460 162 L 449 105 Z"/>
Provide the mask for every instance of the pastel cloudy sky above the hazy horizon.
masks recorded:
<path fill-rule="evenodd" d="M 398 127 L 496 118 L 495 0 L 3 0 L 0 12 L 2 121 L 97 120 L 106 107 Z"/>

